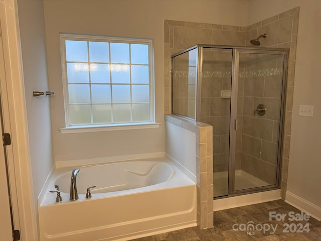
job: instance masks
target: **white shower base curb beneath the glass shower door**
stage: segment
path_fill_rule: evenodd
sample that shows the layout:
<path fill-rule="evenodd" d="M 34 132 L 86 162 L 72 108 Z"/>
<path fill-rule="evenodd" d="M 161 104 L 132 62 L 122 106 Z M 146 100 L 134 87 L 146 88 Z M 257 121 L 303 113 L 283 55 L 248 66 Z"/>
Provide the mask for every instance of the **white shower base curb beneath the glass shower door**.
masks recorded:
<path fill-rule="evenodd" d="M 240 195 L 216 199 L 213 201 L 213 211 L 219 211 L 228 208 L 241 207 L 261 202 L 269 202 L 281 199 L 281 190 L 276 189 L 266 192 L 257 192 L 252 194 Z"/>

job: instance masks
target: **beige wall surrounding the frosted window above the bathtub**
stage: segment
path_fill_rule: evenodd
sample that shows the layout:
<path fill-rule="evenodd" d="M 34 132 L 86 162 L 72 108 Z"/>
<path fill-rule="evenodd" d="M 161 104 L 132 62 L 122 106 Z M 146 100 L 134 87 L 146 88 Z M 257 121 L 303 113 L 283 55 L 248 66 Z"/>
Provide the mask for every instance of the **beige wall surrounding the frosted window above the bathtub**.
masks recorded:
<path fill-rule="evenodd" d="M 164 152 L 164 20 L 245 25 L 247 1 L 45 0 L 46 44 L 56 161 Z M 229 12 L 229 17 L 226 13 Z M 59 33 L 98 34 L 154 40 L 156 122 L 161 128 L 64 134 Z"/>

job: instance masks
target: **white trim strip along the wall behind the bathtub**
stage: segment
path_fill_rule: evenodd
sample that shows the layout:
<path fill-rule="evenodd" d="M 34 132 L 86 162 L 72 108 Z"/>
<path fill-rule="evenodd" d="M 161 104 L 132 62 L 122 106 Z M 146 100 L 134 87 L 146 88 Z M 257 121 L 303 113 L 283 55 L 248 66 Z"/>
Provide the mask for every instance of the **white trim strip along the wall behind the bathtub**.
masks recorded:
<path fill-rule="evenodd" d="M 91 159 L 56 161 L 56 168 L 90 165 L 90 164 L 98 164 L 98 163 L 108 163 L 108 162 L 119 162 L 119 161 L 137 160 L 137 159 L 164 157 L 164 156 L 165 156 L 164 152 L 154 152 L 154 153 L 141 153 L 141 154 L 133 154 L 133 155 L 114 156 L 114 157 L 99 157 L 99 158 L 91 158 Z"/>

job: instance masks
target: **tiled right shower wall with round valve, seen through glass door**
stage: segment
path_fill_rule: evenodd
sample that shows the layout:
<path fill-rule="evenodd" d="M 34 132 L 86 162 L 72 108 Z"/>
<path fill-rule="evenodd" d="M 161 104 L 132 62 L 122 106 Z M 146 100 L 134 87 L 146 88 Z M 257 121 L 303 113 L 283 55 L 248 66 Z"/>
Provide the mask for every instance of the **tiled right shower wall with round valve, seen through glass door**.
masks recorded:
<path fill-rule="evenodd" d="M 241 169 L 269 185 L 276 182 L 280 108 L 283 79 L 283 56 L 240 54 L 246 58 L 240 75 L 238 104 L 242 116 Z M 266 113 L 260 116 L 253 110 L 264 104 Z"/>

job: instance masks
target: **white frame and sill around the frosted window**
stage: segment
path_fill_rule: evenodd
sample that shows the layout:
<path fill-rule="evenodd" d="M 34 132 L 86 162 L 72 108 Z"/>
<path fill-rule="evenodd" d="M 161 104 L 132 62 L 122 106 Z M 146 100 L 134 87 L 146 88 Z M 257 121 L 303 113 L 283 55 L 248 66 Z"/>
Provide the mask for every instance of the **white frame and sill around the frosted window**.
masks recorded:
<path fill-rule="evenodd" d="M 69 95 L 68 95 L 68 79 L 67 79 L 67 61 L 66 61 L 66 40 L 75 41 L 98 41 L 110 43 L 130 43 L 130 44 L 146 44 L 148 45 L 148 66 L 149 66 L 149 122 L 128 122 L 128 123 L 111 123 L 111 124 L 91 124 L 91 125 L 71 125 L 69 119 Z M 112 36 L 93 36 L 80 34 L 60 34 L 60 49 L 61 49 L 61 67 L 64 92 L 64 107 L 65 107 L 65 122 L 66 127 L 59 129 L 61 133 L 81 133 L 81 132 L 100 132 L 111 130 L 130 130 L 130 129 L 145 129 L 157 128 L 158 123 L 155 123 L 155 106 L 154 106 L 154 58 L 153 58 L 153 40 L 139 39 L 127 37 L 112 37 Z M 112 84 L 112 83 L 110 83 Z"/>

